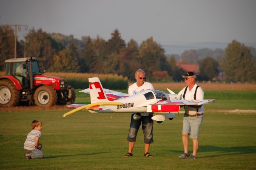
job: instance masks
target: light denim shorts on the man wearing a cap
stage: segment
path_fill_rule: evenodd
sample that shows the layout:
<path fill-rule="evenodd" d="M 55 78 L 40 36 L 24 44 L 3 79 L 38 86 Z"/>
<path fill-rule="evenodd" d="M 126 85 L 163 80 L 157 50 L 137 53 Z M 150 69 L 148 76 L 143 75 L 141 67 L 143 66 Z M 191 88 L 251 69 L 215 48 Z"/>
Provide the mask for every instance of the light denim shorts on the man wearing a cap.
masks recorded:
<path fill-rule="evenodd" d="M 182 133 L 188 133 L 191 139 L 197 139 L 203 118 L 203 115 L 190 117 L 185 113 L 183 117 Z"/>

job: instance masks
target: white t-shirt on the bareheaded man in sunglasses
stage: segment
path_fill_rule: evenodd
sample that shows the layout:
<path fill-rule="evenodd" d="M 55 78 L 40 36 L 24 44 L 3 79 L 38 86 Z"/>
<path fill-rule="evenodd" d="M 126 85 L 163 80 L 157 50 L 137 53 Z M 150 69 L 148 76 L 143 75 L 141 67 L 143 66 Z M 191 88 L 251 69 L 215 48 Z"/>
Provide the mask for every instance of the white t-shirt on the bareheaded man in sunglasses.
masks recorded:
<path fill-rule="evenodd" d="M 138 87 L 137 83 L 134 83 L 129 86 L 128 94 L 134 95 L 144 90 L 154 90 L 153 85 L 150 82 L 144 82 L 142 86 Z M 132 113 L 133 114 L 133 113 Z M 142 116 L 148 116 L 148 113 L 142 113 Z"/>

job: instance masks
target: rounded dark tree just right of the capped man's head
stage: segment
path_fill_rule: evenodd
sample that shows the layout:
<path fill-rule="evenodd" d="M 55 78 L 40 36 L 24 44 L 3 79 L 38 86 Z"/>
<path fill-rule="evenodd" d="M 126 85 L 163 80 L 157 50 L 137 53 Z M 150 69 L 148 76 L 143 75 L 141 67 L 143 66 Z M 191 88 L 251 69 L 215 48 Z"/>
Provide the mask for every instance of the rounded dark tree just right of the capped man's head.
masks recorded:
<path fill-rule="evenodd" d="M 212 80 L 219 74 L 219 62 L 212 57 L 206 57 L 199 62 L 199 70 L 200 74 L 199 77 L 202 80 Z"/>

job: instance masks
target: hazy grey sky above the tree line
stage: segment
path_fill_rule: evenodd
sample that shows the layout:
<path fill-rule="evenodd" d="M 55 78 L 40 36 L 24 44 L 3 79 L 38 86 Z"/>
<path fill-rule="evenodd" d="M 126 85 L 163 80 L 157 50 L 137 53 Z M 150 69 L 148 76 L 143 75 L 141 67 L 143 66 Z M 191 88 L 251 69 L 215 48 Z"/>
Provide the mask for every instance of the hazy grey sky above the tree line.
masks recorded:
<path fill-rule="evenodd" d="M 256 0 L 0 0 L 0 25 L 161 45 L 256 43 Z M 19 37 L 28 34 L 25 27 Z"/>

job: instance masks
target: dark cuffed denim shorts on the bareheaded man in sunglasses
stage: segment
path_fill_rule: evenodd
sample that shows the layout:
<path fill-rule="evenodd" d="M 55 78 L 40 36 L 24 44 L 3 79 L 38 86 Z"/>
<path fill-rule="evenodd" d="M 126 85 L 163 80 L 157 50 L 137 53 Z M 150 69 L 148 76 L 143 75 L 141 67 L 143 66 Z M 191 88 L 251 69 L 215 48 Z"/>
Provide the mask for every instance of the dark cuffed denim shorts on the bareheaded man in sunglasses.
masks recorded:
<path fill-rule="evenodd" d="M 131 124 L 129 133 L 127 136 L 128 142 L 136 142 L 137 133 L 139 131 L 139 127 L 142 124 L 142 131 L 144 134 L 144 143 L 151 144 L 154 142 L 153 140 L 153 124 L 154 121 L 151 119 L 152 116 L 141 116 L 138 120 L 134 120 L 134 114 L 131 114 Z"/>

